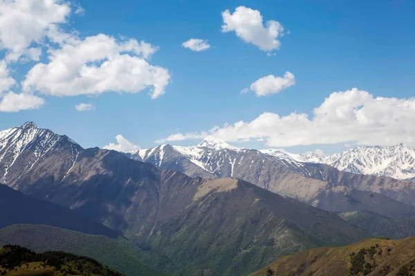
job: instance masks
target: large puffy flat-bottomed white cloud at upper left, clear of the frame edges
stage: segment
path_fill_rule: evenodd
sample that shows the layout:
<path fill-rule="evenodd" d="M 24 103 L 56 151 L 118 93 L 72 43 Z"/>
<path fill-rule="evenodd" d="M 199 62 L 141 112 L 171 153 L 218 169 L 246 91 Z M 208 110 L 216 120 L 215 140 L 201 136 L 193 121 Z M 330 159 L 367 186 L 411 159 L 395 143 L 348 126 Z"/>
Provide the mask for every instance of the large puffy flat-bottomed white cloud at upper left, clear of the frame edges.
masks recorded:
<path fill-rule="evenodd" d="M 146 60 L 157 47 L 136 39 L 116 41 L 105 34 L 63 40 L 66 43 L 61 48 L 48 51 L 49 63 L 37 63 L 30 69 L 23 81 L 25 92 L 75 96 L 137 93 L 152 87 L 153 99 L 165 93 L 168 70 Z"/>

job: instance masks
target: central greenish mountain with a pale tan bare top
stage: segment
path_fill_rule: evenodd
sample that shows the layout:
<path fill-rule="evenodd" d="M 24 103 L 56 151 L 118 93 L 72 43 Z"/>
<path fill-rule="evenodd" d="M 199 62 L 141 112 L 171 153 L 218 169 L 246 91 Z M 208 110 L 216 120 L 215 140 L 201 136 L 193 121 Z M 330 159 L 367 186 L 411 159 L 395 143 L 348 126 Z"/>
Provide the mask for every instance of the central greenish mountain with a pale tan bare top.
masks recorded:
<path fill-rule="evenodd" d="M 246 275 L 275 255 L 347 244 L 362 233 L 329 212 L 238 179 L 204 181 L 193 202 L 154 229 L 147 246 L 191 270 Z"/>

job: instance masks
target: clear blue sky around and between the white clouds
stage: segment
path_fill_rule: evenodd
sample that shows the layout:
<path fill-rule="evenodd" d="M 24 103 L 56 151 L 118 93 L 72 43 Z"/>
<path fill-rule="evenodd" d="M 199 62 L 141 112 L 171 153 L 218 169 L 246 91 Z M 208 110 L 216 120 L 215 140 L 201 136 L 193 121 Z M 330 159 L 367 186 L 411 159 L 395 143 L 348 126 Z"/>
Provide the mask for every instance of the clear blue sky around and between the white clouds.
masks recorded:
<path fill-rule="evenodd" d="M 1 129 L 35 121 L 39 127 L 66 134 L 84 147 L 102 147 L 115 141 L 116 135 L 122 135 L 131 143 L 147 148 L 155 146 L 157 139 L 177 132 L 203 132 L 214 126 L 223 127 L 225 123 L 249 122 L 264 112 L 279 116 L 304 112 L 313 117 L 313 109 L 332 92 L 351 88 L 365 90 L 373 97 L 414 96 L 414 1 L 77 3 L 85 12 L 71 14 L 67 23 L 62 24 L 64 30 L 77 30 L 81 38 L 103 33 L 144 40 L 160 47 L 149 63 L 169 70 L 171 79 L 165 95 L 151 99 L 147 90 L 73 97 L 44 95 L 46 103 L 42 108 L 0 112 Z M 239 6 L 258 10 L 264 24 L 274 20 L 284 26 L 285 34 L 278 38 L 281 47 L 273 51 L 275 55 L 268 57 L 265 51 L 246 43 L 235 32 L 221 32 L 221 12 L 228 9 L 232 13 Z M 75 8 L 74 3 L 71 7 Z M 201 52 L 183 48 L 181 44 L 191 38 L 208 39 L 211 48 Z M 41 61 L 47 61 L 46 53 Z M 35 63 L 10 64 L 12 77 L 23 80 Z M 265 97 L 257 97 L 253 92 L 241 94 L 243 88 L 257 79 L 267 75 L 282 77 L 286 71 L 295 75 L 294 86 Z M 12 90 L 19 92 L 19 86 Z M 74 106 L 78 103 L 91 103 L 95 110 L 77 112 Z M 410 119 L 403 116 L 402 121 Z M 404 137 L 409 127 L 403 128 Z M 302 140 L 295 144 L 277 141 L 265 145 L 264 141 L 257 141 L 261 140 L 257 136 L 250 142 L 241 142 L 246 140 L 245 136 L 236 141 L 237 138 L 229 136 L 232 133 L 219 136 L 237 146 L 285 147 L 293 152 L 315 148 L 337 152 L 346 148 L 344 144 L 371 144 L 374 140 L 359 136 L 356 141 L 353 137 L 347 141 L 336 137 L 330 141 Z M 393 144 L 398 139 L 382 144 Z M 169 143 L 194 145 L 199 140 Z M 411 141 L 406 142 L 411 144 Z"/>

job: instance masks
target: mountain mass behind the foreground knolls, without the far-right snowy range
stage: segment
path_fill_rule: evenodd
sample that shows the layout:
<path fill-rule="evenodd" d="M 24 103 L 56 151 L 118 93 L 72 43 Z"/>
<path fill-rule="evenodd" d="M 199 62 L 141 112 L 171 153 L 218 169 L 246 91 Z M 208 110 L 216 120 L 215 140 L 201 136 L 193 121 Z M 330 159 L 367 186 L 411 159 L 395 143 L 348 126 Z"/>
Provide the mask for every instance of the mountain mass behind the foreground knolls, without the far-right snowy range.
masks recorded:
<path fill-rule="evenodd" d="M 126 275 L 247 275 L 309 248 L 415 235 L 414 181 L 285 154 L 212 137 L 82 148 L 28 122 L 0 131 L 0 243 L 82 253 Z"/>

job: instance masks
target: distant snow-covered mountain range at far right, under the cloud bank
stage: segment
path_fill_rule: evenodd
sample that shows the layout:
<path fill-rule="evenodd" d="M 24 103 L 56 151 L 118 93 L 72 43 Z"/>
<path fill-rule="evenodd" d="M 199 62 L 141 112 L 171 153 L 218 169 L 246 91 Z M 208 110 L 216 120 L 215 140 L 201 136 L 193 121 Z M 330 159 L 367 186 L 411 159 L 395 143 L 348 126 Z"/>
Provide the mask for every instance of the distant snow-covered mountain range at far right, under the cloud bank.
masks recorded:
<path fill-rule="evenodd" d="M 404 144 L 396 146 L 365 146 L 351 148 L 341 154 L 319 155 L 315 152 L 292 154 L 285 150 L 261 150 L 268 155 L 300 162 L 328 164 L 338 170 L 360 175 L 414 179 L 415 149 Z"/>

